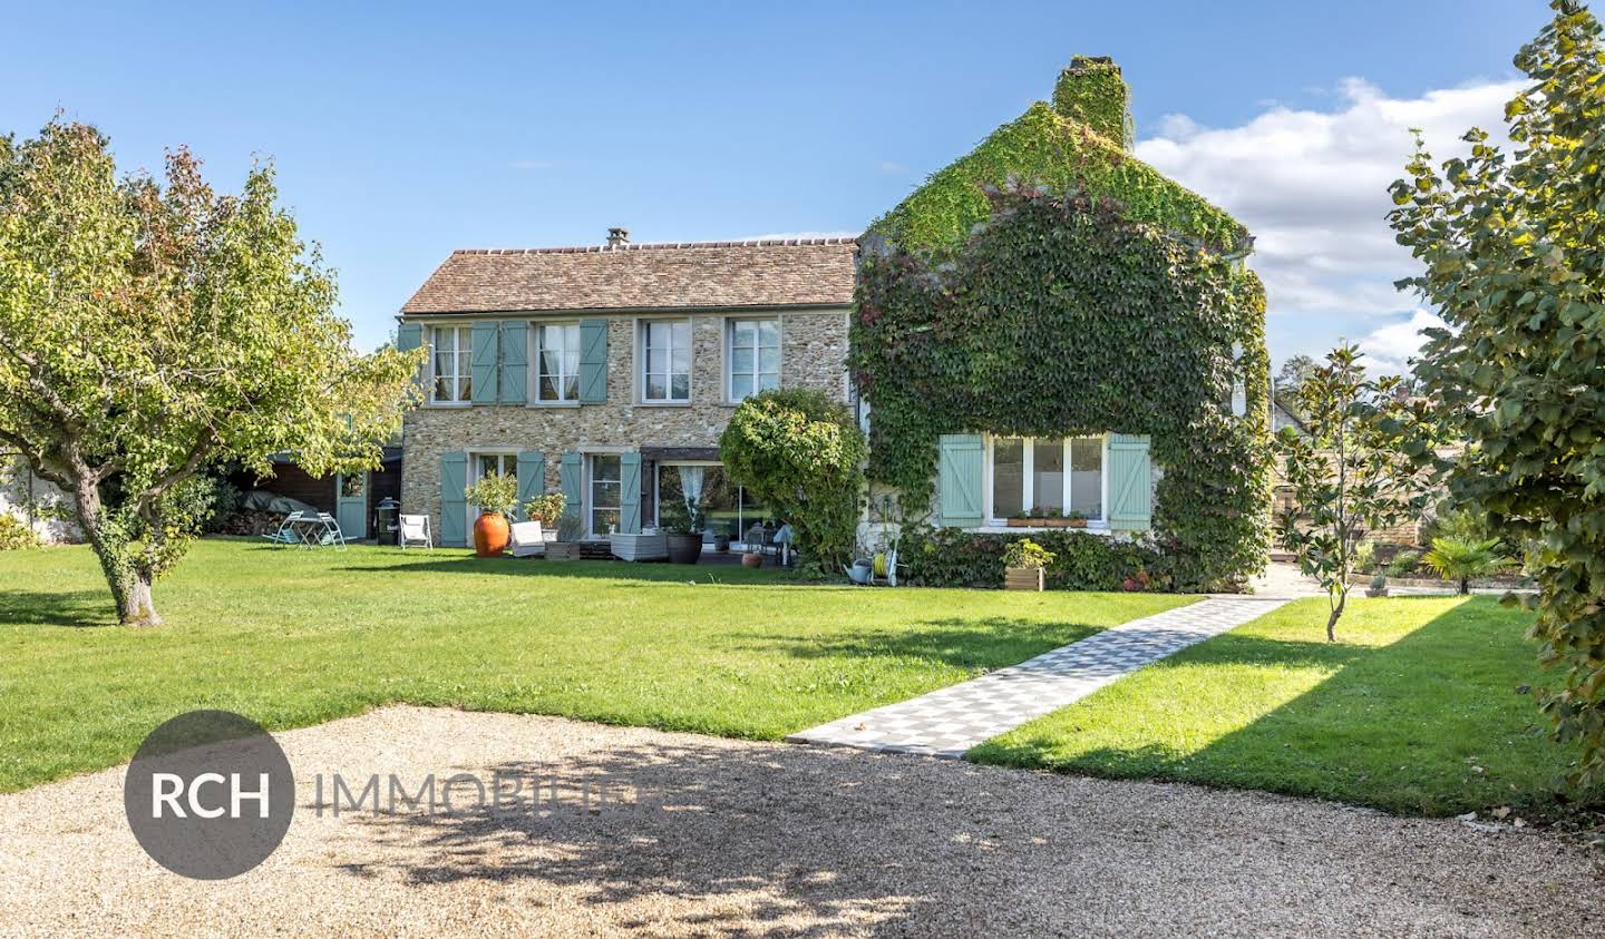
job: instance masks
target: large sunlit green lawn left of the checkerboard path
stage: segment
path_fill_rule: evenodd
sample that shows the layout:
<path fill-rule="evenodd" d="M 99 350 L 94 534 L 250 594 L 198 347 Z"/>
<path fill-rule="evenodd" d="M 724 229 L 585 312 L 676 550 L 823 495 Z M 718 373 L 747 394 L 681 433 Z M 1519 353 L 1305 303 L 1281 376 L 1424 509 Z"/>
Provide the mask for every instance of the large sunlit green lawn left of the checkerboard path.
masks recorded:
<path fill-rule="evenodd" d="M 1188 599 L 209 539 L 156 602 L 165 626 L 124 629 L 87 549 L 0 552 L 0 791 L 122 762 L 193 708 L 287 729 L 408 701 L 774 740 Z"/>

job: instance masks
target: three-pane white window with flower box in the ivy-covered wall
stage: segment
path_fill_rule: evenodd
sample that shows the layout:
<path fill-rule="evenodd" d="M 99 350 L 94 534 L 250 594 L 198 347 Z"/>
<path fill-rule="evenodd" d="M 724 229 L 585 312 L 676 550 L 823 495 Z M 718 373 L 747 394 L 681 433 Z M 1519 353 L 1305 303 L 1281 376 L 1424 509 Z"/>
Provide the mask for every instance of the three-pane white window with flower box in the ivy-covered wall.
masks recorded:
<path fill-rule="evenodd" d="M 987 441 L 987 517 L 1080 515 L 1104 520 L 1107 437 L 993 437 Z"/>

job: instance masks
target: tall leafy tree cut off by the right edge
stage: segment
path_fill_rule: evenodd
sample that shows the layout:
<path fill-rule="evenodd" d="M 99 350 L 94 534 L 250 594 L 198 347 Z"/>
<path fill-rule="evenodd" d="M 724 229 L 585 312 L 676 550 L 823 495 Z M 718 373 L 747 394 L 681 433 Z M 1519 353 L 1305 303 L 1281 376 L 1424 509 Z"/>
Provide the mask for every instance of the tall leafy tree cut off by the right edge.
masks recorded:
<path fill-rule="evenodd" d="M 1605 47 L 1581 3 L 1515 58 L 1514 148 L 1472 128 L 1436 167 L 1417 140 L 1393 183 L 1401 281 L 1438 307 L 1416 374 L 1469 445 L 1451 494 L 1526 549 L 1533 634 L 1565 684 L 1541 692 L 1558 740 L 1583 740 L 1581 783 L 1605 782 Z M 1514 602 L 1514 600 L 1512 600 Z"/>

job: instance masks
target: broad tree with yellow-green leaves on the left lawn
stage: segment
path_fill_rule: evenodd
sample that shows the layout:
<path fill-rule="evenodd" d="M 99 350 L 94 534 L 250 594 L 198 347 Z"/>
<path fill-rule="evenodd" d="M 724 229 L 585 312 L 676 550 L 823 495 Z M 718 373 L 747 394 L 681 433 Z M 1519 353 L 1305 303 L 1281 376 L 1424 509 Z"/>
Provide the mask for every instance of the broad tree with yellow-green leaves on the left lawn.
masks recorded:
<path fill-rule="evenodd" d="M 127 624 L 210 510 L 204 472 L 372 469 L 417 355 L 360 356 L 271 167 L 220 196 L 188 151 L 116 178 L 93 127 L 0 138 L 0 441 L 71 493 Z"/>

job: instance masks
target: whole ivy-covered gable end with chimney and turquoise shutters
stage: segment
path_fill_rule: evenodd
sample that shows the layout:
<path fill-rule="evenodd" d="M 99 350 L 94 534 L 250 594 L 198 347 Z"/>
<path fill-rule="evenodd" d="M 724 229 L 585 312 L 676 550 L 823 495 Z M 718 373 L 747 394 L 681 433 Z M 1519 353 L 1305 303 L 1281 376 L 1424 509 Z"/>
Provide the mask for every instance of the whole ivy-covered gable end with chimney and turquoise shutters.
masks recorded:
<path fill-rule="evenodd" d="M 905 518 L 939 496 L 937 523 L 974 528 L 984 435 L 1111 435 L 1109 528 L 1151 531 L 1173 586 L 1237 584 L 1263 567 L 1270 523 L 1250 242 L 1109 136 L 1125 127 L 1119 69 L 1080 67 L 1095 93 L 1072 101 L 1080 85 L 1061 80 L 1056 100 L 1104 132 L 1035 104 L 860 241 L 849 364 L 872 406 L 868 475 Z M 1130 512 L 1114 504 L 1127 490 Z"/>

